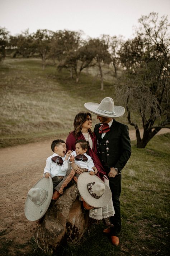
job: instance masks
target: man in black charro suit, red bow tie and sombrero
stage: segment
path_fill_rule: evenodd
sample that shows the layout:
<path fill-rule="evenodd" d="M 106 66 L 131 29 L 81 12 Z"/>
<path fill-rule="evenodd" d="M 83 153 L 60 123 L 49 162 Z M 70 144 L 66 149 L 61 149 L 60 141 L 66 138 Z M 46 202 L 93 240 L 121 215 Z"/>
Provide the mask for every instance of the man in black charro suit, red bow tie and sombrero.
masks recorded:
<path fill-rule="evenodd" d="M 104 98 L 100 104 L 88 102 L 85 108 L 97 115 L 100 121 L 95 125 L 94 133 L 97 137 L 98 156 L 108 174 L 112 191 L 115 215 L 110 217 L 113 227 L 104 229 L 104 233 L 111 235 L 112 243 L 119 245 L 118 233 L 121 231 L 121 210 L 119 197 L 121 194 L 121 170 L 131 156 L 131 141 L 128 126 L 115 121 L 123 116 L 125 109 L 114 106 L 112 98 Z"/>

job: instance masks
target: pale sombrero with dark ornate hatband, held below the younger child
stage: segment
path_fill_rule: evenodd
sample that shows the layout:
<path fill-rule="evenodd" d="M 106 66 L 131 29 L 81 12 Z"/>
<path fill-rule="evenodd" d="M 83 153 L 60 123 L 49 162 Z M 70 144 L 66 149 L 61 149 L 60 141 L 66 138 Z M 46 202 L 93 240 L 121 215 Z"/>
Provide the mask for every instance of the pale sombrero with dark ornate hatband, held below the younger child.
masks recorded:
<path fill-rule="evenodd" d="M 110 188 L 96 175 L 83 172 L 77 180 L 77 187 L 81 197 L 88 205 L 94 208 L 104 207 L 110 201 Z"/>

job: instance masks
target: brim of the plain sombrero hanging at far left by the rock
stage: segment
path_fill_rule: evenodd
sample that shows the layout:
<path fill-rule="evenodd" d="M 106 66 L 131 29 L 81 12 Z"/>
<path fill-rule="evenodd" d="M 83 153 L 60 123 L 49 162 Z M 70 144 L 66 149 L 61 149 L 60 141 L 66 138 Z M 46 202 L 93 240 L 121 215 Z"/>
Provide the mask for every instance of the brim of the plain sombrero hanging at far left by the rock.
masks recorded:
<path fill-rule="evenodd" d="M 27 196 L 25 201 L 25 216 L 28 220 L 39 220 L 42 216 L 46 213 L 53 194 L 53 184 L 52 179 L 49 178 L 42 178 L 37 181 L 37 183 L 32 188 L 44 188 L 47 190 L 47 198 L 44 203 L 41 205 L 42 212 L 40 213 L 40 206 L 36 206 Z"/>

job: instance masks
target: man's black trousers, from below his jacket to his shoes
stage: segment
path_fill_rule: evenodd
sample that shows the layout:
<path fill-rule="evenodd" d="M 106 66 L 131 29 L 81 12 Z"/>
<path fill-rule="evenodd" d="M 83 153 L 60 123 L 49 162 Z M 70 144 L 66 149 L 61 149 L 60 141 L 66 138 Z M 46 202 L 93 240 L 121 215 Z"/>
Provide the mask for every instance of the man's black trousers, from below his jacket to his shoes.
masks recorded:
<path fill-rule="evenodd" d="M 105 171 L 108 174 L 110 169 L 105 168 Z M 121 231 L 121 205 L 119 200 L 121 194 L 121 180 L 121 174 L 116 175 L 114 178 L 109 178 L 109 186 L 112 191 L 112 201 L 115 210 L 115 215 L 110 217 L 110 222 L 114 224 L 113 228 L 111 228 L 110 235 L 115 236 L 118 236 L 118 233 Z"/>

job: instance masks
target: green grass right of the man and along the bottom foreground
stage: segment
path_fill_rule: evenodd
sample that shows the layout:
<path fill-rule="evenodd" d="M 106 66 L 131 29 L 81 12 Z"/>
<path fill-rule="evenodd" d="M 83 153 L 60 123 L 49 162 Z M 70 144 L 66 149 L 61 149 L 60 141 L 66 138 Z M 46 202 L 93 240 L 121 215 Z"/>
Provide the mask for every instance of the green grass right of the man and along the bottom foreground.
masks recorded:
<path fill-rule="evenodd" d="M 168 256 L 169 139 L 168 133 L 155 136 L 145 149 L 138 149 L 132 145 L 131 158 L 122 171 L 122 231 L 118 247 L 112 246 L 109 236 L 103 235 L 104 225 L 100 221 L 99 224 L 94 223 L 89 226 L 80 242 L 61 245 L 52 255 Z M 10 246 L 13 246 L 14 251 L 17 250 L 17 255 L 22 255 L 24 248 L 19 249 L 10 242 L 6 242 L 5 247 L 4 243 L 4 255 L 8 255 Z M 33 240 L 30 244 L 32 250 L 24 251 L 24 255 L 48 255 L 42 252 Z"/>

